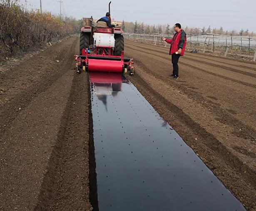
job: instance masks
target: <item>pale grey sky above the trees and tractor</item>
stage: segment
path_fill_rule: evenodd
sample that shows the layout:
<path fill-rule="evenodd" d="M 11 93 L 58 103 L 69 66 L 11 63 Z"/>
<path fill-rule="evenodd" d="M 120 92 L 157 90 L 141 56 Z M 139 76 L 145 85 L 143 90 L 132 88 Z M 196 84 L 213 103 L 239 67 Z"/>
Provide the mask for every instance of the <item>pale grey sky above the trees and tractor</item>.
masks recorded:
<path fill-rule="evenodd" d="M 33 9 L 40 0 L 27 1 Z M 109 0 L 63 0 L 64 12 L 77 19 L 98 19 L 108 10 Z M 58 0 L 42 0 L 42 10 L 59 14 Z M 112 0 L 112 18 L 145 24 L 181 23 L 183 27 L 224 27 L 224 30 L 247 28 L 256 32 L 256 0 Z"/>

